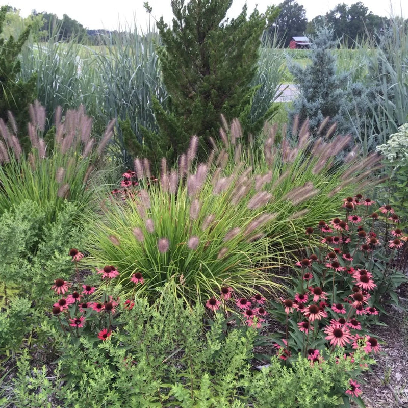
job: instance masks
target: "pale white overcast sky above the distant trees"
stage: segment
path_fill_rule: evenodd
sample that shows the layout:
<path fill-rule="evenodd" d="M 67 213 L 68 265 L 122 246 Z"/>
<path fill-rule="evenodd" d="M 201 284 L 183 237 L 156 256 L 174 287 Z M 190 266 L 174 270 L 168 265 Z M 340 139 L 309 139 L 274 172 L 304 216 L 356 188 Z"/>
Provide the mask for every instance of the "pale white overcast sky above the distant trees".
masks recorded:
<path fill-rule="evenodd" d="M 117 29 L 119 22 L 121 27 L 126 23 L 130 24 L 136 19 L 138 28 L 146 31 L 149 21 L 149 15 L 143 8 L 145 0 L 1 0 L 0 4 L 9 4 L 21 10 L 21 16 L 26 17 L 35 9 L 37 12 L 46 11 L 57 14 L 62 18 L 67 14 L 70 18 L 79 21 L 85 28 L 109 30 Z M 247 0 L 248 14 L 253 11 L 256 5 L 258 10 L 264 12 L 268 5 L 278 5 L 283 0 Z M 339 3 L 351 5 L 358 0 L 297 0 L 297 3 L 303 5 L 306 10 L 308 20 L 319 14 L 325 14 L 333 9 Z M 408 18 L 407 0 L 361 0 L 370 11 L 379 16 L 389 17 L 393 15 L 402 15 Z M 187 0 L 185 0 L 187 3 Z M 245 0 L 233 0 L 233 5 L 228 12 L 228 17 L 236 17 L 242 10 Z M 153 8 L 152 15 L 159 19 L 164 17 L 166 22 L 170 22 L 172 12 L 170 0 L 149 0 L 149 5 Z M 402 9 L 402 10 L 401 10 Z M 154 20 L 150 17 L 151 24 Z"/>

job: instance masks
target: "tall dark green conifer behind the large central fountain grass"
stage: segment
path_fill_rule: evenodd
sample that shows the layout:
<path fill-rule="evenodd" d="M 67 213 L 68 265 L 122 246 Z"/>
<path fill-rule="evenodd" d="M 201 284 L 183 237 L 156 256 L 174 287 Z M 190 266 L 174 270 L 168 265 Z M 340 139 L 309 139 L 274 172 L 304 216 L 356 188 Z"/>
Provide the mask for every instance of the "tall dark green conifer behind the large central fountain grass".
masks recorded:
<path fill-rule="evenodd" d="M 162 46 L 163 81 L 170 95 L 166 112 L 155 104 L 160 135 L 145 137 L 149 145 L 155 138 L 155 150 L 170 152 L 170 159 L 186 150 L 189 139 L 218 137 L 220 115 L 227 120 L 239 118 L 244 134 L 255 133 L 270 118 L 270 107 L 257 121 L 251 121 L 250 87 L 259 57 L 261 35 L 275 8 L 266 14 L 257 10 L 247 18 L 246 5 L 240 15 L 225 19 L 232 0 L 172 0 L 172 28 L 163 17 L 157 22 Z M 148 7 L 148 5 L 145 5 Z M 149 10 L 148 10 L 149 11 Z"/>

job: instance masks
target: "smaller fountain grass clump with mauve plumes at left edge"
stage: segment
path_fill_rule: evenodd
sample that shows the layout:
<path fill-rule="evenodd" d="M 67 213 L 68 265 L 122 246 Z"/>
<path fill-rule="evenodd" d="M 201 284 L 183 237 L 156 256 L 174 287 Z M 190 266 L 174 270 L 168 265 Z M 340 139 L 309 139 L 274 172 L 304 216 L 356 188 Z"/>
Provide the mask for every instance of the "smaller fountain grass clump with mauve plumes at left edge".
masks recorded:
<path fill-rule="evenodd" d="M 38 102 L 30 107 L 30 116 L 28 155 L 16 137 L 13 117 L 11 129 L 0 119 L 0 214 L 24 200 L 46 209 L 46 221 L 55 221 L 65 201 L 75 202 L 82 211 L 92 197 L 90 175 L 112 136 L 114 121 L 97 143 L 91 135 L 92 119 L 83 107 L 64 117 L 57 109 L 53 137 L 43 134 L 46 114 Z"/>

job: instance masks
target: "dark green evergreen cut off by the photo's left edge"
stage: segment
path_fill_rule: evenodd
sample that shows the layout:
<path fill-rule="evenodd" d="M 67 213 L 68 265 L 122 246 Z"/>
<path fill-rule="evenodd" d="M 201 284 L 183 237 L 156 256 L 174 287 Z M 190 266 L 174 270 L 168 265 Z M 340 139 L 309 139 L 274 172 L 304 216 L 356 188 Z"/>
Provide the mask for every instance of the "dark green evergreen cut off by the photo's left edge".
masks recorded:
<path fill-rule="evenodd" d="M 6 18 L 8 6 L 0 8 L 0 34 Z M 18 78 L 21 63 L 18 55 L 30 34 L 30 25 L 15 40 L 0 38 L 0 118 L 7 122 L 8 111 L 15 114 L 16 124 L 20 129 L 27 123 L 28 106 L 35 98 L 35 73 L 27 81 Z M 15 126 L 15 124 L 14 124 Z"/>

